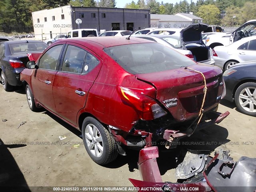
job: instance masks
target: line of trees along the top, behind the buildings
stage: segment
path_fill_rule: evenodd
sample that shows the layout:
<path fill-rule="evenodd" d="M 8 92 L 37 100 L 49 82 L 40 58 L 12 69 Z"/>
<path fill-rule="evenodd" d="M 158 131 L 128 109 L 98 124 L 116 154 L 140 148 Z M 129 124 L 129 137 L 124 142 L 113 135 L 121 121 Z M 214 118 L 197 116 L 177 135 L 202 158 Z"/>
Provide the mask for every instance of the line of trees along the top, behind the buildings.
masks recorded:
<path fill-rule="evenodd" d="M 31 13 L 65 5 L 84 7 L 116 7 L 116 0 L 1 0 L 0 29 L 4 32 L 33 31 Z M 138 0 L 124 8 L 150 9 L 151 14 L 176 14 L 193 12 L 208 24 L 241 25 L 256 19 L 256 0 L 187 0 L 172 3 L 157 0 Z"/>

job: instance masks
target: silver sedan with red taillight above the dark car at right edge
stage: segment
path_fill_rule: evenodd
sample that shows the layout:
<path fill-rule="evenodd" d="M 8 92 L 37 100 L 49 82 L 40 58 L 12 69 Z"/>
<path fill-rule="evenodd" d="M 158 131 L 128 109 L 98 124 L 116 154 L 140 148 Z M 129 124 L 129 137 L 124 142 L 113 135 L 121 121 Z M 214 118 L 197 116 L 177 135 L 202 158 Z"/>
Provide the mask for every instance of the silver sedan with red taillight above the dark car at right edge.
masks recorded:
<path fill-rule="evenodd" d="M 217 46 L 213 52 L 215 65 L 224 71 L 237 63 L 256 60 L 256 36 L 242 38 L 229 46 Z"/>

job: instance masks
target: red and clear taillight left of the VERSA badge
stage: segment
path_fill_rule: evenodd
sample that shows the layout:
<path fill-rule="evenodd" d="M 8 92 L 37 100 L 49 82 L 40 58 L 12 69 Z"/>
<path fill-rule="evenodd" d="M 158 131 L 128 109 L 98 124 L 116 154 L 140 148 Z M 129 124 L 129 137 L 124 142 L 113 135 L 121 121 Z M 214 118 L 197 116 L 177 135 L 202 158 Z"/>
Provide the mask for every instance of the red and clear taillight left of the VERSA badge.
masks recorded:
<path fill-rule="evenodd" d="M 146 95 L 122 86 L 118 86 L 118 92 L 120 93 L 122 100 L 132 106 L 142 120 L 152 120 L 166 114 L 156 101 Z"/>

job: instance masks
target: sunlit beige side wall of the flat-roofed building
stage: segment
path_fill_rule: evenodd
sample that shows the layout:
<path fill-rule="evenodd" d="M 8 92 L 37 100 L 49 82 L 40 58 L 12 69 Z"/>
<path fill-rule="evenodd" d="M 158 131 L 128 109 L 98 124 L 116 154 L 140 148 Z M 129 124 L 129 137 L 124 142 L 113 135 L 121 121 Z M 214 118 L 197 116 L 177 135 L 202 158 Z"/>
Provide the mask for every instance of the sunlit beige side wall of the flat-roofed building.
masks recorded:
<path fill-rule="evenodd" d="M 72 30 L 70 5 L 32 12 L 35 38 L 49 39 Z M 46 18 L 46 19 L 45 19 Z"/>

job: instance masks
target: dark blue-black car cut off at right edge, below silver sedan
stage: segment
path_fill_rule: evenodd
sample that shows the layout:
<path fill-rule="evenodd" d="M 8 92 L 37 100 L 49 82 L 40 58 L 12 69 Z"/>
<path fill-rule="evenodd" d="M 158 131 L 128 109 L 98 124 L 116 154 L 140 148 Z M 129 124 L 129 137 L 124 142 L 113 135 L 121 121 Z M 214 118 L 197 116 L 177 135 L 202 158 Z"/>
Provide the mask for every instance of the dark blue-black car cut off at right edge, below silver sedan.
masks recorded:
<path fill-rule="evenodd" d="M 256 116 L 256 60 L 236 64 L 223 74 L 226 100 L 235 101 L 242 113 Z"/>

